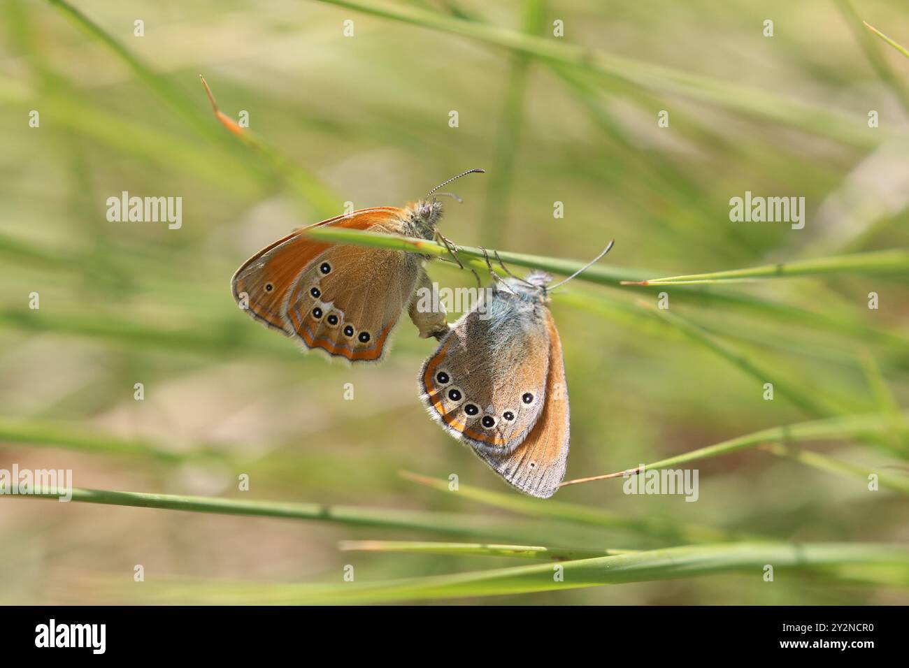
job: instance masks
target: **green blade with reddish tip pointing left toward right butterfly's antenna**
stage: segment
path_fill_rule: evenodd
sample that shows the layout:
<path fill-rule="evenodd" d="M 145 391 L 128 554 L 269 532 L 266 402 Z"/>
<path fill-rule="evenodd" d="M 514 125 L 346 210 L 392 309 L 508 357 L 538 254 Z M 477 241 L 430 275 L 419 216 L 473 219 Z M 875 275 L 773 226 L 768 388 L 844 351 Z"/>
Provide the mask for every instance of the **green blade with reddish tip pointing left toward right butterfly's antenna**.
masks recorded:
<path fill-rule="evenodd" d="M 797 260 L 790 263 L 764 264 L 749 269 L 732 269 L 709 274 L 683 274 L 665 278 L 651 278 L 629 283 L 633 285 L 691 285 L 705 283 L 730 283 L 758 278 L 788 278 L 817 274 L 897 274 L 909 273 L 909 251 L 902 249 L 874 251 Z"/>

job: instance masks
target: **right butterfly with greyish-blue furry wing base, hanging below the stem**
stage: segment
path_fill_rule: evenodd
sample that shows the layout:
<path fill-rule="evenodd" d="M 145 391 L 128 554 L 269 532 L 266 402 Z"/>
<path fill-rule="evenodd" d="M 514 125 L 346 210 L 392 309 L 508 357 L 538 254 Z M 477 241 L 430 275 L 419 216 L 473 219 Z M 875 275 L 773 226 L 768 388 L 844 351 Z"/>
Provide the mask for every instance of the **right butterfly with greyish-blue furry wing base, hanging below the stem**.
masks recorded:
<path fill-rule="evenodd" d="M 568 462 L 568 388 L 549 294 L 612 245 L 552 287 L 544 272 L 493 274 L 488 296 L 442 337 L 420 372 L 430 416 L 524 494 L 555 494 Z"/>

